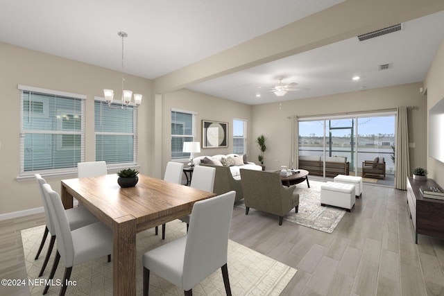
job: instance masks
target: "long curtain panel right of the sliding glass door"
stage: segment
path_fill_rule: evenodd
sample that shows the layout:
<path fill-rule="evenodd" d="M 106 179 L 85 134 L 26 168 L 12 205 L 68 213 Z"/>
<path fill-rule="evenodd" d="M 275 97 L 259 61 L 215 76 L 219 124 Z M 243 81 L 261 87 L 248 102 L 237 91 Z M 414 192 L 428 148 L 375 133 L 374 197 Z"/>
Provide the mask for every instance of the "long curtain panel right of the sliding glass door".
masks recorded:
<path fill-rule="evenodd" d="M 409 129 L 407 128 L 407 107 L 398 107 L 398 131 L 396 133 L 395 186 L 407 190 L 407 177 L 410 175 Z"/>

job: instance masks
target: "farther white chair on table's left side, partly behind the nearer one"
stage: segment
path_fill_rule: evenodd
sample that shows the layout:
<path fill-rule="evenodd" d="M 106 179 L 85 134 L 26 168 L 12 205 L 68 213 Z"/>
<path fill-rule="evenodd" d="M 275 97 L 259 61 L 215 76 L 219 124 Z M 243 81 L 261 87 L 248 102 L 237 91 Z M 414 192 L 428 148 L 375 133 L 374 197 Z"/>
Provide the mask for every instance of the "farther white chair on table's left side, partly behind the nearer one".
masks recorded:
<path fill-rule="evenodd" d="M 44 197 L 43 184 L 46 184 L 46 180 L 40 174 L 35 174 L 35 180 L 37 180 L 37 184 L 40 190 L 40 195 L 42 196 L 43 209 L 46 218 L 46 226 L 44 228 L 44 233 L 42 237 L 42 242 L 40 243 L 40 247 L 35 255 L 35 260 L 37 260 L 40 256 L 40 252 L 42 252 L 42 248 L 44 243 L 46 242 L 46 237 L 48 234 L 51 235 L 51 239 L 49 241 L 49 247 L 46 251 L 46 256 L 43 261 L 42 268 L 40 268 L 39 277 L 42 277 L 43 272 L 48 264 L 49 257 L 51 256 L 51 252 L 53 251 L 54 243 L 56 242 L 56 227 L 54 226 L 54 221 L 52 216 L 49 215 L 49 205 Z M 88 211 L 85 207 L 75 207 L 72 209 L 65 210 L 69 228 L 71 230 L 78 229 L 80 227 L 99 222 L 99 220 L 94 216 L 90 211 Z"/>

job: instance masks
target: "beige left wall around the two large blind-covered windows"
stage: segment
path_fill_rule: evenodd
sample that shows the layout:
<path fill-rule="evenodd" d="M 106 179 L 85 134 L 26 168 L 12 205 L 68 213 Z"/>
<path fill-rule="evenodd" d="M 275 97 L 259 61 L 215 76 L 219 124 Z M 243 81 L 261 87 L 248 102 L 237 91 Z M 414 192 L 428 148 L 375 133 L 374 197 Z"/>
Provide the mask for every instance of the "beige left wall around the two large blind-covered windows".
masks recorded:
<path fill-rule="evenodd" d="M 121 73 L 74 62 L 37 51 L 0 43 L 0 214 L 42 207 L 34 180 L 17 182 L 19 175 L 20 96 L 17 85 L 29 85 L 87 96 L 85 105 L 85 160 L 94 160 L 94 96 L 103 88 L 121 89 Z M 153 158 L 153 98 L 151 80 L 126 76 L 126 87 L 144 96 L 139 107 L 140 171 L 151 173 Z M 73 175 L 72 177 L 75 177 Z M 66 177 L 65 177 L 66 178 Z M 49 178 L 60 191 L 61 178 Z"/>

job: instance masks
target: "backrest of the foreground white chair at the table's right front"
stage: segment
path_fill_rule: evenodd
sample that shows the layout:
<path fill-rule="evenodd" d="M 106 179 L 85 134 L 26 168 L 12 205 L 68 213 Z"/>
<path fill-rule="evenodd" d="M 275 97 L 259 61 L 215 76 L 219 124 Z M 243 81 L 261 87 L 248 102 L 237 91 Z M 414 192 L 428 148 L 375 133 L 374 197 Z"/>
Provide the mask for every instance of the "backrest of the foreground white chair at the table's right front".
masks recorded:
<path fill-rule="evenodd" d="M 185 245 L 182 282 L 193 288 L 227 263 L 228 234 L 236 191 L 196 202 Z"/>

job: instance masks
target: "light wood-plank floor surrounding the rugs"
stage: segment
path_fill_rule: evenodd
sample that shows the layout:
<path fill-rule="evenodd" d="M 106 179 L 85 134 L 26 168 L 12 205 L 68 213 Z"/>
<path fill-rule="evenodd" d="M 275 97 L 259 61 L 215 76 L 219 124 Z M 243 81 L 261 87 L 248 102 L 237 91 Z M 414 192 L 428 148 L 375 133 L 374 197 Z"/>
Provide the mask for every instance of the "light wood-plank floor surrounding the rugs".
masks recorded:
<path fill-rule="evenodd" d="M 0 221 L 1 279 L 26 278 L 20 230 L 42 224 L 42 214 Z M 444 241 L 415 244 L 406 191 L 364 184 L 332 234 L 234 207 L 230 238 L 298 270 L 282 295 L 444 295 Z"/>

